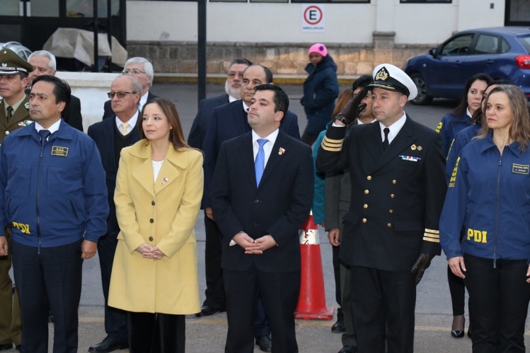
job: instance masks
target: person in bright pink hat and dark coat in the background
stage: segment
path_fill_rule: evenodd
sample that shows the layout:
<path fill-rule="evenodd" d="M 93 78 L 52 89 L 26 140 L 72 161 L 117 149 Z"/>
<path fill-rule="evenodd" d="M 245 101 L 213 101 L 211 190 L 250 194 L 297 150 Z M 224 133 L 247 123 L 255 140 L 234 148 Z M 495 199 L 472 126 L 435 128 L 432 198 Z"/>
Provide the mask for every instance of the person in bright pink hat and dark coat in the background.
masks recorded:
<path fill-rule="evenodd" d="M 339 84 L 337 65 L 325 45 L 311 45 L 308 55 L 309 64 L 306 71 L 309 76 L 304 81 L 304 97 L 301 98 L 308 122 L 301 140 L 311 146 L 330 121 L 335 108 L 335 98 L 339 95 Z"/>

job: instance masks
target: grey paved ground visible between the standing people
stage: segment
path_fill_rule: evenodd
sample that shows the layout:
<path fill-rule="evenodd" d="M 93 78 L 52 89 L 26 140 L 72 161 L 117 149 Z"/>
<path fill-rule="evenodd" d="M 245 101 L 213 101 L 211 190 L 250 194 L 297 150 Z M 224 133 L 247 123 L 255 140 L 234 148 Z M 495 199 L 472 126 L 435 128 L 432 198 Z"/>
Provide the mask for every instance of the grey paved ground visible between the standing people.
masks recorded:
<path fill-rule="evenodd" d="M 285 86 L 291 98 L 290 109 L 299 116 L 301 132 L 306 125 L 305 115 L 299 104 L 300 86 Z M 219 85 L 208 87 L 208 96 L 222 92 Z M 196 87 L 192 84 L 155 84 L 154 93 L 171 98 L 177 105 L 180 119 L 186 136 L 192 120 L 197 112 Z M 405 110 L 415 120 L 434 128 L 446 112 L 454 108 L 454 103 L 435 100 L 433 105 L 417 107 L 410 105 Z M 202 214 L 196 226 L 199 275 L 201 285 L 201 301 L 204 299 L 204 225 Z M 326 302 L 328 306 L 337 307 L 334 302 L 335 288 L 333 266 L 331 264 L 331 246 L 327 242 L 326 233 L 320 230 L 321 254 L 325 279 Z M 451 327 L 451 302 L 447 286 L 447 262 L 444 257 L 436 257 L 429 270 L 425 273 L 417 288 L 415 352 L 447 353 L 471 352 L 471 340 L 456 340 L 449 335 Z M 88 347 L 99 342 L 105 336 L 103 327 L 103 294 L 100 286 L 99 264 L 96 258 L 83 265 L 83 292 L 79 308 L 79 352 L 86 352 Z M 330 331 L 334 321 L 296 320 L 296 335 L 301 353 L 333 353 L 340 347 L 340 335 Z M 226 314 L 218 313 L 207 318 L 188 316 L 186 319 L 186 347 L 190 353 L 219 353 L 224 351 L 226 337 Z M 50 332 L 53 325 L 50 325 Z M 530 335 L 527 328 L 526 336 Z M 50 347 L 52 335 L 50 334 Z M 10 351 L 10 352 L 15 352 Z M 50 349 L 51 352 L 51 349 Z M 122 352 L 127 352 L 124 350 Z M 260 352 L 255 349 L 255 352 Z"/>

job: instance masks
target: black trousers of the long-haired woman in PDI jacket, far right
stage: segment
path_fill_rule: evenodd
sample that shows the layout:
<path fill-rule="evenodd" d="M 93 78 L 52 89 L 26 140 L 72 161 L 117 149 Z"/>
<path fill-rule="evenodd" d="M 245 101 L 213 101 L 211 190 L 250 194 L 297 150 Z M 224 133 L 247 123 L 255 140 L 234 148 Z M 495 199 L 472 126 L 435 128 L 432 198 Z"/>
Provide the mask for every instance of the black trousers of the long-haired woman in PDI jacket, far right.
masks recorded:
<path fill-rule="evenodd" d="M 524 324 L 530 299 L 526 260 L 464 255 L 471 297 L 473 353 L 525 352 Z"/>

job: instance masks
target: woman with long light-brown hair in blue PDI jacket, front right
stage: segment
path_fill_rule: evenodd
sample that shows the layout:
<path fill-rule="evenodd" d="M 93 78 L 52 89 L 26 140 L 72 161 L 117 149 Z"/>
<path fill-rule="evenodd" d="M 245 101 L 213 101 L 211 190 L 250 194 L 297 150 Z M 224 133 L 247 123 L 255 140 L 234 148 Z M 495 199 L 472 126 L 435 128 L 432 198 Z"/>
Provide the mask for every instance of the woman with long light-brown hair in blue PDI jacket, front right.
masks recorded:
<path fill-rule="evenodd" d="M 516 86 L 494 88 L 485 107 L 483 128 L 462 149 L 449 180 L 440 243 L 451 271 L 469 291 L 473 352 L 524 352 L 530 116 Z"/>

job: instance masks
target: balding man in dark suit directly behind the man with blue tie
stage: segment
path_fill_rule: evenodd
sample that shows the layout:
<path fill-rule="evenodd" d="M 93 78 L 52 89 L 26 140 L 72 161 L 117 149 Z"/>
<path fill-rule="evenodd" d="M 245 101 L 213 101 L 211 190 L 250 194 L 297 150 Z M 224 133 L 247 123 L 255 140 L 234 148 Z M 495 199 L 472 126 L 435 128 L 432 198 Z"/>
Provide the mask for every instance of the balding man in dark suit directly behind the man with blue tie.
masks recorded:
<path fill-rule="evenodd" d="M 250 132 L 250 125 L 248 125 L 247 111 L 250 102 L 254 97 L 255 86 L 262 83 L 272 82 L 272 72 L 265 66 L 251 65 L 243 72 L 243 84 L 241 85 L 241 100 L 221 105 L 214 109 L 212 117 L 210 117 L 206 137 L 202 149 L 204 151 L 204 195 L 202 197 L 202 208 L 204 214 L 212 222 L 215 221 L 210 202 L 210 192 L 212 186 L 212 175 L 217 163 L 217 155 L 221 144 L 229 139 L 238 137 L 246 132 Z M 280 130 L 286 134 L 300 139 L 300 132 L 298 129 L 298 118 L 292 112 L 287 111 L 287 114 L 282 119 Z M 219 243 L 217 243 L 219 245 Z M 221 248 L 217 248 L 217 267 L 221 267 L 220 254 Z M 215 260 L 215 259 L 214 259 Z M 212 260 L 213 262 L 213 260 Z M 215 265 L 212 265 L 215 266 Z M 219 272 L 222 274 L 222 272 Z M 219 298 L 221 299 L 221 298 Z M 213 303 L 218 305 L 219 299 Z M 224 298 L 222 298 L 224 304 Z M 255 337 L 256 345 L 260 347 L 263 352 L 270 352 L 270 327 L 265 317 L 263 304 L 260 300 L 257 301 L 257 311 L 255 319 Z M 209 306 L 205 303 L 202 306 L 201 314 L 212 315 L 217 311 L 222 310 L 223 307 Z"/>

